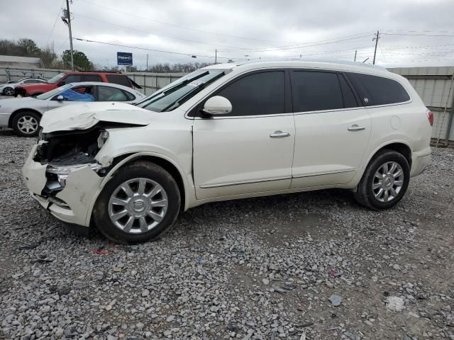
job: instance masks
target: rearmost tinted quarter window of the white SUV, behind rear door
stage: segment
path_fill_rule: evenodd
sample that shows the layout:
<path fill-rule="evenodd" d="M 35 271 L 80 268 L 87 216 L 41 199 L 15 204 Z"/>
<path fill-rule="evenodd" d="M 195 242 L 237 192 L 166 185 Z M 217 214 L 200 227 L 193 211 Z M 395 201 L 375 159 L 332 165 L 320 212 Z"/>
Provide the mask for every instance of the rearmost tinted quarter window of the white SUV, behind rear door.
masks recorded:
<path fill-rule="evenodd" d="M 410 96 L 398 81 L 370 74 L 348 73 L 364 105 L 385 105 L 409 101 Z"/>

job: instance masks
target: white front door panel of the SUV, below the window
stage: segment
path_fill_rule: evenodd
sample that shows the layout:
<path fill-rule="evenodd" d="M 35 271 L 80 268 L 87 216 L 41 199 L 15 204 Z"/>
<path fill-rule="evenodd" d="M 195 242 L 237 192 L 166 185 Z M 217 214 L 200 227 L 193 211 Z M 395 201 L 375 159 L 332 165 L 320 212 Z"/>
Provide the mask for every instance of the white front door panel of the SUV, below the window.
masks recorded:
<path fill-rule="evenodd" d="M 294 136 L 293 115 L 195 119 L 196 198 L 289 188 Z"/>

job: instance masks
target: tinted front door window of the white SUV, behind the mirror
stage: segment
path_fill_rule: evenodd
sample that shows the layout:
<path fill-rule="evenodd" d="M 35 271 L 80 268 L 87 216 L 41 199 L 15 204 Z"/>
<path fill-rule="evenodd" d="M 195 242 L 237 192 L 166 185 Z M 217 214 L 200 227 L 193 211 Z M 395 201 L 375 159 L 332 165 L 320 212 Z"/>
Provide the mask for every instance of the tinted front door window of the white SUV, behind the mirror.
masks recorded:
<path fill-rule="evenodd" d="M 229 84 L 216 96 L 231 102 L 232 112 L 227 115 L 284 113 L 284 79 L 282 71 L 250 74 Z"/>

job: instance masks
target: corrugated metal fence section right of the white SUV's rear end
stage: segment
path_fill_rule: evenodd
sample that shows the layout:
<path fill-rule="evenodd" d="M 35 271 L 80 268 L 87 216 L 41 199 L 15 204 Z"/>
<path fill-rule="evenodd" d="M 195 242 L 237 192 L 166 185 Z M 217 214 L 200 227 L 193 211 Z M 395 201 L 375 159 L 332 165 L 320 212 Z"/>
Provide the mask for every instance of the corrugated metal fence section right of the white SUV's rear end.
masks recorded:
<path fill-rule="evenodd" d="M 409 79 L 423 102 L 433 112 L 433 142 L 436 145 L 454 142 L 452 125 L 448 133 L 449 122 L 453 119 L 454 67 L 402 67 L 389 71 Z"/>

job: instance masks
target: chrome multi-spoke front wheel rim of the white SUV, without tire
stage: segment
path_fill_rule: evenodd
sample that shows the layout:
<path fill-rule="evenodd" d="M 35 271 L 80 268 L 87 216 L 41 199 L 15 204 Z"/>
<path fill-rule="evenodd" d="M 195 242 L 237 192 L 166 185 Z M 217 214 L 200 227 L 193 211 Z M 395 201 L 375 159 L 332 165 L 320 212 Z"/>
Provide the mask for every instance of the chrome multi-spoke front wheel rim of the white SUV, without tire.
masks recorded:
<path fill-rule="evenodd" d="M 159 225 L 168 206 L 167 193 L 159 183 L 151 179 L 130 179 L 112 193 L 109 217 L 123 232 L 140 234 Z"/>

